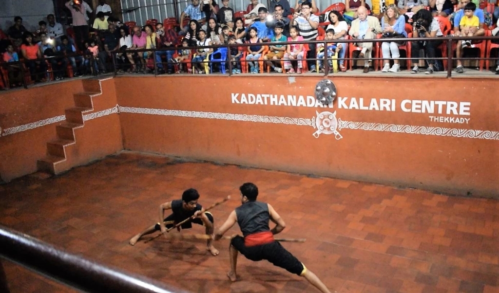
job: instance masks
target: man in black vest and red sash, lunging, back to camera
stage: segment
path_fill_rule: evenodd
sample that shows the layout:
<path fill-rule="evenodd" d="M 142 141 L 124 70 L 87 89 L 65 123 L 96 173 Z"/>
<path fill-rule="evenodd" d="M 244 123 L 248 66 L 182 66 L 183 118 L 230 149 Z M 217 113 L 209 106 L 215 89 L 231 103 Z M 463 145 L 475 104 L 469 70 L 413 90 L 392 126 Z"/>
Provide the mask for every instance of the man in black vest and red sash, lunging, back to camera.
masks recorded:
<path fill-rule="evenodd" d="M 256 185 L 245 183 L 239 189 L 243 204 L 229 215 L 227 221 L 214 236 L 215 240 L 220 240 L 236 222 L 243 232 L 244 237 L 236 236 L 231 240 L 229 248 L 231 271 L 227 273 L 229 279 L 232 282 L 237 281 L 236 265 L 238 252 L 241 252 L 251 261 L 267 260 L 274 266 L 304 277 L 321 292 L 330 293 L 314 273 L 305 268 L 279 242 L 274 240 L 273 235 L 280 233 L 286 224 L 270 204 L 256 201 L 258 196 Z M 272 230 L 268 226 L 269 220 L 276 224 Z"/>

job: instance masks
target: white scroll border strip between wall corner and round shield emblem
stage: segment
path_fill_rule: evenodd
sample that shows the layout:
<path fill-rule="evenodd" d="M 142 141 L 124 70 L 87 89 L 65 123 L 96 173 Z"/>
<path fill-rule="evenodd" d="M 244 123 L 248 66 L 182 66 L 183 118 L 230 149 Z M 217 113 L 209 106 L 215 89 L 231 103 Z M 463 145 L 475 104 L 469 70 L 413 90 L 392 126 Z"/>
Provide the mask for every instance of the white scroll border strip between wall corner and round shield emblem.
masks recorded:
<path fill-rule="evenodd" d="M 300 125 L 300 126 L 313 127 L 312 120 L 305 118 L 150 109 L 150 108 L 135 108 L 135 107 L 121 107 L 121 106 L 119 107 L 119 110 L 120 113 L 163 115 L 163 116 L 176 116 L 176 117 L 189 117 L 189 118 L 206 118 L 206 119 L 220 119 L 220 120 L 233 120 L 233 121 L 250 121 L 250 122 L 260 122 L 260 123 L 274 123 L 274 124 Z"/>

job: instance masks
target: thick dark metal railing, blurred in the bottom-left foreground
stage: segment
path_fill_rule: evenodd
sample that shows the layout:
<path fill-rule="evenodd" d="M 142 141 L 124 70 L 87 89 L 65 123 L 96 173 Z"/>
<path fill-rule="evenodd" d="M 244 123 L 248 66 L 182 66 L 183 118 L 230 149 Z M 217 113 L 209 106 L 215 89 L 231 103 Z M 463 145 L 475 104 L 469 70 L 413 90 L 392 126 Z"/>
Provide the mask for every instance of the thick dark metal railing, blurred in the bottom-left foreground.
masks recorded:
<path fill-rule="evenodd" d="M 0 225 L 0 257 L 83 292 L 184 293 L 106 267 Z M 0 263 L 0 289 L 8 288 Z"/>

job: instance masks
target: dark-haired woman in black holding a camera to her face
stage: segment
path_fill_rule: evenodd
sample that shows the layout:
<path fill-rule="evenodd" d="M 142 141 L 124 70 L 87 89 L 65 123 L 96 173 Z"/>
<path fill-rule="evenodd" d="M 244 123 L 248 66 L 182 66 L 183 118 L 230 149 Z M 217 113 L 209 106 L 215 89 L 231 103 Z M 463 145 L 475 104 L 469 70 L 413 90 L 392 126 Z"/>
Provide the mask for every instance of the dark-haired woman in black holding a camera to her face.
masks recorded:
<path fill-rule="evenodd" d="M 414 21 L 414 30 L 413 30 L 413 36 L 415 38 L 417 37 L 441 37 L 444 34 L 440 30 L 440 25 L 438 23 L 438 20 L 433 18 L 432 12 L 422 9 L 419 10 L 418 13 L 416 13 L 413 16 Z M 411 42 L 412 49 L 411 49 L 411 58 L 412 60 L 412 72 L 411 73 L 418 73 L 419 72 L 419 50 L 423 49 L 426 53 L 426 56 L 428 58 L 428 68 L 425 71 L 425 74 L 432 74 L 434 70 L 434 64 L 435 64 L 435 58 L 437 56 L 436 54 L 436 49 L 437 47 L 443 42 L 443 40 L 430 40 L 430 41 L 415 41 Z"/>

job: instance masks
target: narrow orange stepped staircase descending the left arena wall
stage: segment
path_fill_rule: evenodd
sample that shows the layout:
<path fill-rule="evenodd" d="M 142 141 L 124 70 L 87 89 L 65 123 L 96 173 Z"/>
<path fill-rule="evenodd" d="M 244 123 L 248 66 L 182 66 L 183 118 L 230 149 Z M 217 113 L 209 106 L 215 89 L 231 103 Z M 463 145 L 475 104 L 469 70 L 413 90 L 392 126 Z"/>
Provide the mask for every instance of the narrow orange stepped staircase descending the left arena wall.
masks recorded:
<path fill-rule="evenodd" d="M 83 115 L 94 111 L 92 99 L 102 94 L 99 80 L 83 80 L 85 92 L 74 94 L 75 107 L 65 110 L 66 122 L 55 127 L 57 139 L 47 143 L 47 155 L 37 161 L 38 171 L 58 174 L 72 167 L 68 162 L 68 147 L 75 147 L 76 133 L 85 126 Z"/>

